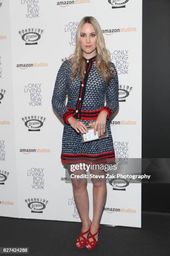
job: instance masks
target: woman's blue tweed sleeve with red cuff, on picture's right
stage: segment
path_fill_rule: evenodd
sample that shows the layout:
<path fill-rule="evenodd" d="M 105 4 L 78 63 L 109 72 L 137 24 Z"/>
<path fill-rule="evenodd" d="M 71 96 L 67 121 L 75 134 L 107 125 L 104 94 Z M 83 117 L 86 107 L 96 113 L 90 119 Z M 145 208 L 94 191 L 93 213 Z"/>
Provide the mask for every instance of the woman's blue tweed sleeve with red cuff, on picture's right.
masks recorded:
<path fill-rule="evenodd" d="M 111 62 L 111 66 L 115 69 L 115 77 L 110 79 L 110 83 L 106 88 L 106 105 L 100 109 L 107 111 L 107 119 L 110 118 L 110 115 L 114 113 L 119 107 L 119 92 L 118 92 L 118 77 L 117 70 L 115 68 L 115 64 Z"/>

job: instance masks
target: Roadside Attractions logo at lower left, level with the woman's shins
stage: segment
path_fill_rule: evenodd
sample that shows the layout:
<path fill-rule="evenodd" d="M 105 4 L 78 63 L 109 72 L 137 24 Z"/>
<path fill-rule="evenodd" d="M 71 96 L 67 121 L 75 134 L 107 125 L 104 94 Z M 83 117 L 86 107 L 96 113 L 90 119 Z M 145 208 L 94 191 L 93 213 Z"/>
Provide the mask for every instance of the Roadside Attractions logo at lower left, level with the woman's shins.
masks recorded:
<path fill-rule="evenodd" d="M 28 198 L 25 199 L 25 202 L 28 205 L 28 208 L 31 209 L 31 212 L 43 213 L 42 210 L 45 209 L 48 201 L 42 198 Z"/>

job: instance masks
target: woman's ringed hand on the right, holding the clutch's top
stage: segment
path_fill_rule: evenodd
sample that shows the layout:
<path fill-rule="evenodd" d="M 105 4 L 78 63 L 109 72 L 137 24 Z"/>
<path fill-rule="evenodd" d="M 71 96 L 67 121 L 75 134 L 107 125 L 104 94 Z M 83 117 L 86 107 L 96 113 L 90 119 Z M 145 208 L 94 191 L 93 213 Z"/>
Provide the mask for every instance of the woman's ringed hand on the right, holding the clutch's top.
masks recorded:
<path fill-rule="evenodd" d="M 95 126 L 94 126 L 94 133 L 96 135 L 96 129 L 98 131 L 98 136 L 103 135 L 105 133 L 105 125 L 107 120 L 107 111 L 102 110 L 96 120 L 95 120 Z"/>

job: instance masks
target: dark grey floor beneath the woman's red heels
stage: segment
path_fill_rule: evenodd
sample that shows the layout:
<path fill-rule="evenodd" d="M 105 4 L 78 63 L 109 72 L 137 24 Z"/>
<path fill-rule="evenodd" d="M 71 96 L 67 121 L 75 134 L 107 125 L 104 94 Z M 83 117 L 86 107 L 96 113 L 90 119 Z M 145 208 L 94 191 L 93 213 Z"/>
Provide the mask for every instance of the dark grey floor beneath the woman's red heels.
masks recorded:
<path fill-rule="evenodd" d="M 32 256 L 170 256 L 170 213 L 143 211 L 142 228 L 101 225 L 94 251 L 75 247 L 80 228 L 81 223 L 0 217 L 0 246 L 26 246 Z"/>

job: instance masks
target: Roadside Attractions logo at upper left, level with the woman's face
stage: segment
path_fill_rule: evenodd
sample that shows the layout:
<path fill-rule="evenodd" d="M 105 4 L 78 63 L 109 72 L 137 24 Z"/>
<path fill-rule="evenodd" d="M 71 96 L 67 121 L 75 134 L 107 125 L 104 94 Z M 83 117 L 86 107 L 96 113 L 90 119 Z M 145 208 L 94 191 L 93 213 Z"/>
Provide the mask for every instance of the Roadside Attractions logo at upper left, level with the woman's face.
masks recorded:
<path fill-rule="evenodd" d="M 25 45 L 38 44 L 37 41 L 40 40 L 43 30 L 40 28 L 26 28 L 18 31 Z"/>

